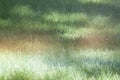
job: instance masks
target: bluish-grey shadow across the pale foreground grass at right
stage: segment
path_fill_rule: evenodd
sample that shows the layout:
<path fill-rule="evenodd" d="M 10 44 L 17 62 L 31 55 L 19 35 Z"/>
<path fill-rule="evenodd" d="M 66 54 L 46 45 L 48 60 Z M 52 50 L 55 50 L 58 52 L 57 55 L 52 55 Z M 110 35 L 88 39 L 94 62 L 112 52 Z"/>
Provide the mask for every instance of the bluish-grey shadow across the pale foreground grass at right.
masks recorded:
<path fill-rule="evenodd" d="M 65 54 L 58 54 L 57 57 L 49 58 L 47 63 L 56 68 L 72 67 L 72 69 L 75 69 L 77 72 L 86 74 L 87 77 L 98 77 L 103 73 L 120 75 L 120 60 L 116 58 L 115 60 L 113 60 L 113 58 L 111 58 L 111 60 L 107 60 L 99 57 L 90 58 L 82 56 L 76 58 L 72 57 L 70 54 L 69 56 Z"/>

